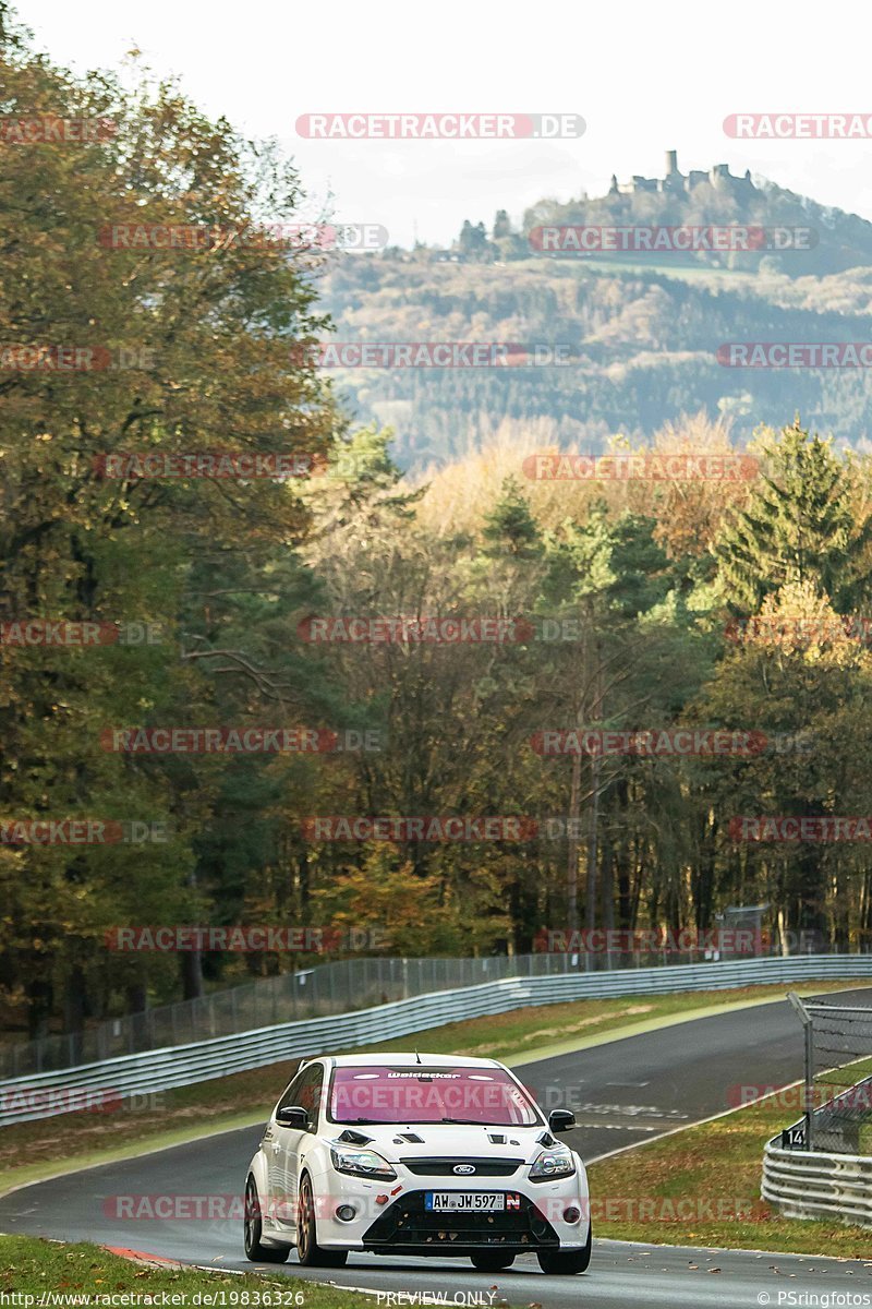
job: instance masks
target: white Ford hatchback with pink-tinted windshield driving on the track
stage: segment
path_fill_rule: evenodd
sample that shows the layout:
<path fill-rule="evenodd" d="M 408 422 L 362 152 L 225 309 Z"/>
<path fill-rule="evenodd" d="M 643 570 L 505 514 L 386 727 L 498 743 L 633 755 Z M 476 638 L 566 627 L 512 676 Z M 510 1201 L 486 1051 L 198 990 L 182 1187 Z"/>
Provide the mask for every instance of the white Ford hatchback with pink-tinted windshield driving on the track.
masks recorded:
<path fill-rule="evenodd" d="M 345 1263 L 349 1250 L 465 1255 L 497 1272 L 536 1254 L 544 1272 L 591 1258 L 587 1174 L 495 1059 L 341 1055 L 303 1064 L 248 1166 L 250 1259 Z"/>

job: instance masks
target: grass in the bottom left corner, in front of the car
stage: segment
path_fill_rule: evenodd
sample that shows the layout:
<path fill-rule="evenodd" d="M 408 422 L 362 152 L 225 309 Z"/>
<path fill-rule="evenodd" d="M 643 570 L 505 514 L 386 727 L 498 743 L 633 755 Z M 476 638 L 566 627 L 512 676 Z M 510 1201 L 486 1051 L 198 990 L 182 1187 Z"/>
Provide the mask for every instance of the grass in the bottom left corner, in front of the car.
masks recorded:
<path fill-rule="evenodd" d="M 329 1274 L 326 1274 L 328 1276 Z M 148 1305 L 184 1306 L 235 1306 L 281 1305 L 293 1309 L 348 1309 L 356 1297 L 341 1287 L 320 1287 L 302 1279 L 290 1280 L 286 1276 L 264 1276 L 261 1274 L 227 1274 L 200 1271 L 199 1268 L 176 1268 L 145 1266 L 110 1254 L 99 1245 L 63 1245 L 60 1241 L 43 1241 L 39 1237 L 4 1236 L 0 1237 L 0 1292 L 4 1296 L 31 1295 L 31 1304 L 39 1302 L 46 1292 L 69 1296 L 65 1304 L 90 1304 L 99 1306 L 111 1304 L 110 1296 L 128 1295 L 127 1301 L 133 1309 Z M 195 1299 L 199 1295 L 200 1299 Z M 88 1301 L 76 1297 L 90 1297 Z M 161 1297 L 166 1296 L 166 1300 Z M 180 1299 L 169 1299 L 180 1297 Z M 214 1299 L 209 1299 L 214 1296 Z M 106 1299 L 101 1299 L 106 1297 Z M 235 1297 L 235 1299 L 234 1299 Z M 246 1299 L 247 1297 L 247 1299 Z M 4 1300 L 26 1309 L 26 1301 Z M 115 1305 L 124 1301 L 116 1299 Z M 366 1301 L 363 1301 L 366 1304 Z"/>

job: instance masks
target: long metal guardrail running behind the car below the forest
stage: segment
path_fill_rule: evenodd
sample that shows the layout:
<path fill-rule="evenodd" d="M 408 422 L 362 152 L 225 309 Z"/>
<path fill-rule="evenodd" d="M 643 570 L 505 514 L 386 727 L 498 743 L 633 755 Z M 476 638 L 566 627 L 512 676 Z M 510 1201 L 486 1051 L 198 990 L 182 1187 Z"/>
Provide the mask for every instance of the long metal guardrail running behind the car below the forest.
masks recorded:
<path fill-rule="evenodd" d="M 724 990 L 779 982 L 868 978 L 869 954 L 808 954 L 788 958 L 686 963 L 612 973 L 563 973 L 503 978 L 482 986 L 434 991 L 353 1013 L 281 1022 L 191 1045 L 122 1055 L 0 1081 L 0 1126 L 69 1111 L 75 1089 L 126 1098 L 187 1086 L 284 1059 L 396 1039 L 446 1022 L 506 1013 L 523 1005 L 680 991 Z"/>

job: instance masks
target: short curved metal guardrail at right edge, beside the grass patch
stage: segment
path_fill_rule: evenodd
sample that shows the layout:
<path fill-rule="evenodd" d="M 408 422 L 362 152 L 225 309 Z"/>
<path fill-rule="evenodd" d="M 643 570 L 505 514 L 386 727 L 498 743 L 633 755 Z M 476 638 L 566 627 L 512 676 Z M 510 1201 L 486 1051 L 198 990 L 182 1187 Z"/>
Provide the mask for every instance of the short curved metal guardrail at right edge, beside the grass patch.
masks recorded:
<path fill-rule="evenodd" d="M 841 1219 L 872 1227 L 872 1158 L 783 1149 L 774 1136 L 763 1152 L 760 1194 L 788 1219 Z"/>

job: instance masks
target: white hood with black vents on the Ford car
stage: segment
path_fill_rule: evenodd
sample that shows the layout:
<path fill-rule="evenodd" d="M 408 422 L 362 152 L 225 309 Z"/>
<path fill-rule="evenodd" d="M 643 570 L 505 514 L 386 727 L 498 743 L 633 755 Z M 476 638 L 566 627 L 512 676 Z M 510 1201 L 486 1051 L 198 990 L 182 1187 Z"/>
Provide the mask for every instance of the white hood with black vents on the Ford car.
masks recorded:
<path fill-rule="evenodd" d="M 469 1127 L 455 1123 L 336 1124 L 332 1140 L 343 1131 L 369 1138 L 367 1145 L 392 1164 L 399 1160 L 463 1156 L 469 1158 L 522 1158 L 532 1164 L 543 1151 L 540 1138 L 550 1141 L 544 1124 L 533 1127 Z"/>

